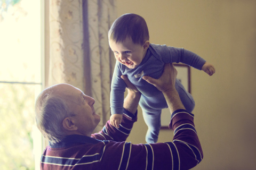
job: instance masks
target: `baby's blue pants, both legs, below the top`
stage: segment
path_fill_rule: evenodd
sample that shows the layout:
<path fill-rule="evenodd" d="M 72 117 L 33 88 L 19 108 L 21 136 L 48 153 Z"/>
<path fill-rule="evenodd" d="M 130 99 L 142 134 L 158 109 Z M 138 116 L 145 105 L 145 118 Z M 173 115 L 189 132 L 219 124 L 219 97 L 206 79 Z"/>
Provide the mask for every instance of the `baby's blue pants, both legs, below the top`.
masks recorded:
<path fill-rule="evenodd" d="M 193 97 L 189 94 L 189 92 L 185 90 L 185 88 L 182 86 L 178 79 L 176 79 L 175 88 L 178 91 L 180 99 L 186 110 L 188 112 L 192 112 L 195 107 L 195 101 Z M 146 134 L 147 143 L 157 142 L 158 134 L 161 129 L 161 111 L 163 108 L 168 107 L 165 98 L 163 98 L 163 95 L 162 98 L 157 98 L 154 101 L 155 103 L 153 104 L 151 99 L 148 99 L 147 97 L 141 95 L 139 103 L 140 107 L 142 108 L 143 118 L 148 126 L 148 131 Z M 151 105 L 154 106 L 152 107 Z M 161 106 L 161 108 L 159 108 L 158 106 Z"/>

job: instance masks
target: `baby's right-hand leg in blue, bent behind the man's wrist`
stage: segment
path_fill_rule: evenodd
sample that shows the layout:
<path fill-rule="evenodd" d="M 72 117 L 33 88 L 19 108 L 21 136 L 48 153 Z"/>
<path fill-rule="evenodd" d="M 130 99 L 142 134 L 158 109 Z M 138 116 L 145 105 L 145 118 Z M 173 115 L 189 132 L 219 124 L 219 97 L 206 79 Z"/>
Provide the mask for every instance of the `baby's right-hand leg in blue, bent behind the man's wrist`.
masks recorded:
<path fill-rule="evenodd" d="M 176 79 L 175 88 L 178 91 L 180 100 L 182 101 L 182 104 L 185 106 L 186 110 L 188 112 L 192 112 L 195 108 L 195 101 L 192 95 L 186 91 L 178 79 Z"/>

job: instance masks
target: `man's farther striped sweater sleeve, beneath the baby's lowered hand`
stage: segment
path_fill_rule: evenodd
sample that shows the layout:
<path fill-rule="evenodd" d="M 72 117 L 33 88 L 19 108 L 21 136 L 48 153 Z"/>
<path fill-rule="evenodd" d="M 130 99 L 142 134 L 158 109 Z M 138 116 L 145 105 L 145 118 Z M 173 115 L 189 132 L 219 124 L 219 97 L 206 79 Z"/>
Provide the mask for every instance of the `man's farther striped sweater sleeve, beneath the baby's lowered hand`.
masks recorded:
<path fill-rule="evenodd" d="M 133 123 L 137 121 L 137 112 L 132 114 L 126 109 L 123 111 L 123 119 L 119 128 L 112 126 L 108 121 L 99 133 L 94 133 L 91 137 L 98 140 L 125 141 L 132 130 Z"/>

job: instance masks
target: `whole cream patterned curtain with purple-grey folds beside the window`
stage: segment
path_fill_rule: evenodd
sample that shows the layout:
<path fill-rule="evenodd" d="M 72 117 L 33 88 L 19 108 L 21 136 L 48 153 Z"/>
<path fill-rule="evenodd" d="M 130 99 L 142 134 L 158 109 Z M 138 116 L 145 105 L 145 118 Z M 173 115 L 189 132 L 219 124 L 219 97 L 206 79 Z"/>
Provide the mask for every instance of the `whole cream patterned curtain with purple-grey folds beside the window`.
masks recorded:
<path fill-rule="evenodd" d="M 99 131 L 110 116 L 110 82 L 115 57 L 108 45 L 108 30 L 115 19 L 114 0 L 49 1 L 46 86 L 69 83 L 93 97 L 95 112 L 101 116 L 95 131 Z"/>

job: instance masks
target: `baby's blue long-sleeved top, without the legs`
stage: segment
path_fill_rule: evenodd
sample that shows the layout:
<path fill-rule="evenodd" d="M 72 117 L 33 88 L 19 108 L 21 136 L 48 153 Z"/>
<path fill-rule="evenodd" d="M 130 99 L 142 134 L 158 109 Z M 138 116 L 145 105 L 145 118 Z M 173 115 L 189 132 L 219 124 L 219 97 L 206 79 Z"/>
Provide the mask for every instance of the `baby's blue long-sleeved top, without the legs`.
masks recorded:
<path fill-rule="evenodd" d="M 142 62 L 134 69 L 129 69 L 116 61 L 110 92 L 111 114 L 123 114 L 126 84 L 121 75 L 127 75 L 127 78 L 144 97 L 150 100 L 158 100 L 158 98 L 161 98 L 160 96 L 163 96 L 162 92 L 143 80 L 143 75 L 148 75 L 154 79 L 160 78 L 163 74 L 165 63 L 184 63 L 201 70 L 205 62 L 203 58 L 189 50 L 155 44 L 149 45 Z M 161 105 L 161 103 L 159 104 Z"/>

